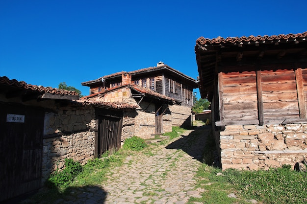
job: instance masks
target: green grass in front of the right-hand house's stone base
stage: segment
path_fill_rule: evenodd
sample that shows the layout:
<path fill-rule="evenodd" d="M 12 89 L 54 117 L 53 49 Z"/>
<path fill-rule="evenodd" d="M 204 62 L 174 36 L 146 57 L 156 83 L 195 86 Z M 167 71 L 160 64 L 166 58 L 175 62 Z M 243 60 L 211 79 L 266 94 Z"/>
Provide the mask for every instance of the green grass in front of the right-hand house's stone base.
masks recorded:
<path fill-rule="evenodd" d="M 222 173 L 217 176 L 217 173 Z M 204 189 L 202 198 L 189 203 L 246 204 L 256 200 L 263 204 L 306 204 L 307 173 L 283 168 L 247 171 L 222 170 L 202 164 L 197 173 L 197 187 Z M 234 193 L 237 198 L 229 198 Z"/>

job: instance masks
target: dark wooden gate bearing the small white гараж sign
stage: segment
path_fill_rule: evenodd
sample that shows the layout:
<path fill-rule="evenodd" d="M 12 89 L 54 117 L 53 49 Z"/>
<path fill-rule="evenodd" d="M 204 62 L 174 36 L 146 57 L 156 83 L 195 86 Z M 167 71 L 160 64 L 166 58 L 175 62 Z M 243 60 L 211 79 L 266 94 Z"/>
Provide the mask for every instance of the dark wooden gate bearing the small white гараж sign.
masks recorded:
<path fill-rule="evenodd" d="M 0 202 L 41 187 L 44 111 L 0 104 Z"/>

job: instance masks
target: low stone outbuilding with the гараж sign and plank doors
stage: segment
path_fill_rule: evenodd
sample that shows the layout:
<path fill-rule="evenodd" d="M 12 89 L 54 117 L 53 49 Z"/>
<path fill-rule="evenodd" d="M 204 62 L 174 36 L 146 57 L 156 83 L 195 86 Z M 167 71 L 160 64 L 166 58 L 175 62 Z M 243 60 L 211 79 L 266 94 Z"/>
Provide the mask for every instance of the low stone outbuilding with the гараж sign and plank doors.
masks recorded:
<path fill-rule="evenodd" d="M 124 111 L 75 91 L 0 77 L 0 202 L 41 187 L 64 159 L 81 163 L 120 148 Z"/>

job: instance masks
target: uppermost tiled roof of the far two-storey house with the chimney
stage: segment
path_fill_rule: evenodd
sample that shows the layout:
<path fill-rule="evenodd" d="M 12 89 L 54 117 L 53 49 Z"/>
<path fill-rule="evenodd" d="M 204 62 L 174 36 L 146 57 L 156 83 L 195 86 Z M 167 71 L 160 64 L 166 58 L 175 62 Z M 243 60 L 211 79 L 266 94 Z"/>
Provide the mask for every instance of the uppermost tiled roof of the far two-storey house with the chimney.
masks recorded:
<path fill-rule="evenodd" d="M 160 69 L 168 69 L 172 72 L 179 74 L 180 76 L 182 76 L 184 78 L 187 78 L 187 79 L 192 80 L 192 81 L 196 81 L 192 77 L 189 77 L 189 76 L 181 73 L 180 71 L 169 67 L 168 65 L 163 65 L 163 66 L 159 66 L 159 67 L 142 68 L 142 69 L 138 69 L 138 70 L 134 70 L 134 71 L 128 71 L 128 72 L 127 71 L 116 72 L 116 73 L 113 73 L 113 74 L 110 74 L 110 75 L 102 76 L 102 77 L 95 79 L 95 80 L 82 82 L 81 85 L 88 85 L 88 84 L 93 84 L 93 83 L 96 83 L 96 82 L 101 82 L 102 78 L 108 79 L 108 78 L 115 77 L 115 76 L 121 76 L 122 74 L 126 74 L 126 73 L 128 73 L 128 74 L 138 74 L 138 73 L 142 73 L 142 72 L 148 72 L 148 71 L 154 71 L 154 70 L 160 70 Z"/>

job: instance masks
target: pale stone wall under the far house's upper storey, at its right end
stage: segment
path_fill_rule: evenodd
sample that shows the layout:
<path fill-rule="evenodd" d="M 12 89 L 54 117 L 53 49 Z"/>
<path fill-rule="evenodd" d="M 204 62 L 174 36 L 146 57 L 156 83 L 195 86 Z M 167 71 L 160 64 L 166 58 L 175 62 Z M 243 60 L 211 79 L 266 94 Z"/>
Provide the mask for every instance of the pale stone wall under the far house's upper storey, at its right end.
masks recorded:
<path fill-rule="evenodd" d="M 172 112 L 172 125 L 190 127 L 192 124 L 191 108 L 188 106 L 172 105 L 169 106 Z"/>

